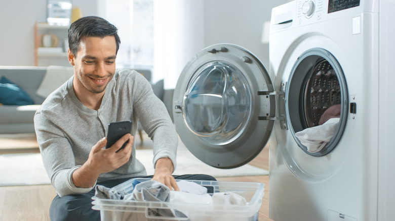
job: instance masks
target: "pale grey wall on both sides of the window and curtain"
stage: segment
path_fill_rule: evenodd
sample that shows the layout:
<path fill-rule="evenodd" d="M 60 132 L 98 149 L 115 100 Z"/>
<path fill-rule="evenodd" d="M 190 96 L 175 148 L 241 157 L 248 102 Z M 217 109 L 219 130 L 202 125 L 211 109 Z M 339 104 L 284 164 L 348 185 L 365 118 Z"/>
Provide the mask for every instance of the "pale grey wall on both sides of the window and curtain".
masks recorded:
<path fill-rule="evenodd" d="M 72 2 L 74 6 L 81 8 L 83 16 L 88 16 L 98 14 L 101 1 L 103 0 Z M 263 23 L 270 20 L 273 7 L 287 2 L 290 0 L 204 0 L 203 34 L 200 34 L 204 40 L 198 40 L 199 44 L 203 42 L 204 47 L 225 42 L 241 45 L 253 52 L 268 68 L 268 44 L 261 43 Z M 35 21 L 46 20 L 46 4 L 47 0 L 2 2 L 0 19 L 4 22 L 0 34 L 0 66 L 34 65 L 33 26 Z M 188 22 L 198 27 L 202 25 L 201 21 Z M 188 53 L 181 63 L 186 63 L 191 58 L 191 53 L 198 52 L 195 48 L 193 52 L 191 48 L 185 50 Z"/>

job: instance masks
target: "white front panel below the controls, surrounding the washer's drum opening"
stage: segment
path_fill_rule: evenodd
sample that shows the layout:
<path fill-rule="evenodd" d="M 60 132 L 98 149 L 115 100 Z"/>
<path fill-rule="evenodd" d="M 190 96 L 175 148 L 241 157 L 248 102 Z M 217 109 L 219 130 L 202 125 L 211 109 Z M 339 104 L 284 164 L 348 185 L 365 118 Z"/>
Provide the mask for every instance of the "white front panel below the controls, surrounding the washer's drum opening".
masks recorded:
<path fill-rule="evenodd" d="M 352 35 L 352 18 L 357 16 L 362 18 L 362 33 Z M 377 17 L 373 13 L 349 15 L 330 23 L 290 26 L 286 34 L 270 35 L 275 90 L 281 81 L 287 81 L 302 52 L 322 47 L 338 60 L 347 81 L 349 102 L 357 103 L 357 114 L 349 114 L 337 147 L 322 157 L 305 154 L 290 131 L 275 124 L 269 145 L 270 218 L 327 220 L 332 210 L 358 220 L 376 220 L 378 31 L 373 24 L 377 24 Z M 283 56 L 277 59 L 279 54 Z"/>

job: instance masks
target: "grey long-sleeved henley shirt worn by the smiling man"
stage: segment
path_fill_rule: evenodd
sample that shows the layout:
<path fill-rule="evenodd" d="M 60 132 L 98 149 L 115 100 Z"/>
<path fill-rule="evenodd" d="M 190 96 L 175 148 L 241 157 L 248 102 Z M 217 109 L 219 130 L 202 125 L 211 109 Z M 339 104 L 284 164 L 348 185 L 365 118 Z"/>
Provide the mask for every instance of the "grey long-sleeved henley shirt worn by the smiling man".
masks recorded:
<path fill-rule="evenodd" d="M 93 145 L 106 136 L 111 122 L 132 120 L 131 134 L 134 136 L 139 120 L 153 140 L 153 163 L 168 157 L 176 168 L 177 133 L 164 103 L 155 96 L 141 74 L 117 70 L 107 85 L 98 111 L 87 108 L 77 99 L 72 81 L 73 77 L 51 93 L 34 116 L 44 167 L 60 197 L 84 194 L 93 189 L 75 187 L 71 176 L 87 161 Z M 101 174 L 98 181 L 145 175 L 133 144 L 129 162 Z"/>

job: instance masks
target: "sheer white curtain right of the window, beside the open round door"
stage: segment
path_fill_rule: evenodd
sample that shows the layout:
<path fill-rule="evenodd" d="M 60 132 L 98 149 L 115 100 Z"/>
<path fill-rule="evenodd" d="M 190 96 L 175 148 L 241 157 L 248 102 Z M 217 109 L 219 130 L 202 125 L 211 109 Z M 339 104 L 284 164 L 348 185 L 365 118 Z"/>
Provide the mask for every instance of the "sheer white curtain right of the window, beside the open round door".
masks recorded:
<path fill-rule="evenodd" d="M 187 62 L 204 47 L 204 0 L 154 1 L 153 82 L 175 88 Z"/>

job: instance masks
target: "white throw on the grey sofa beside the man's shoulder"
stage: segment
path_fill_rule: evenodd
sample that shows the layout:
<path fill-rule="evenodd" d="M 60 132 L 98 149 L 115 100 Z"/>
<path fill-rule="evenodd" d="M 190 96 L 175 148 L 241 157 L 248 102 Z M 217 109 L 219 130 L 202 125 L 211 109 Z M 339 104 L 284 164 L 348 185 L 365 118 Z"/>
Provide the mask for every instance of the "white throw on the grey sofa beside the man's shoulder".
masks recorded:
<path fill-rule="evenodd" d="M 73 67 L 49 66 L 43 81 L 37 89 L 37 95 L 44 98 L 48 97 L 48 95 L 66 82 L 73 74 Z"/>

